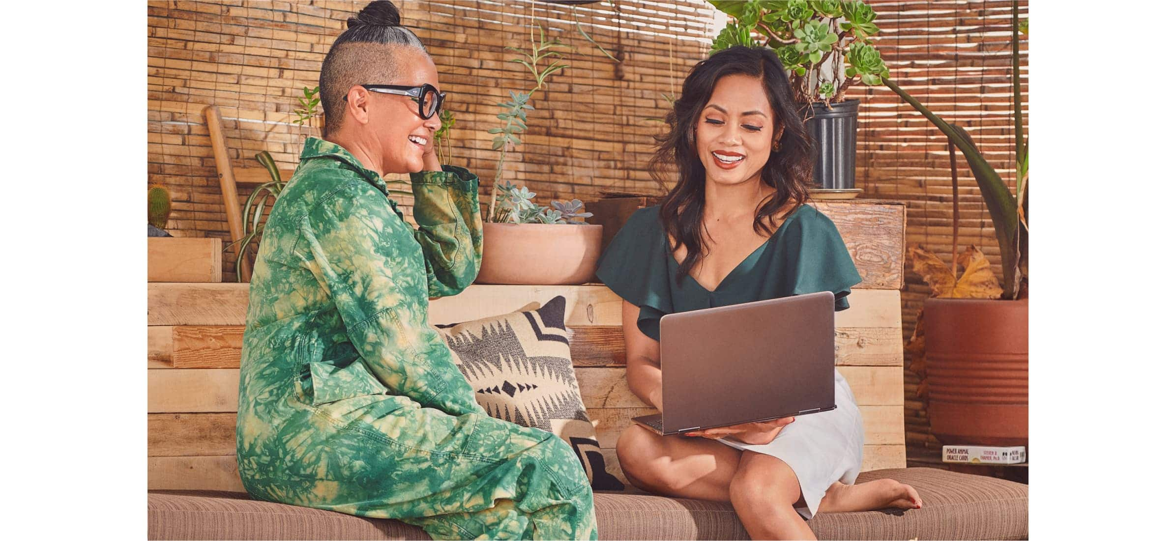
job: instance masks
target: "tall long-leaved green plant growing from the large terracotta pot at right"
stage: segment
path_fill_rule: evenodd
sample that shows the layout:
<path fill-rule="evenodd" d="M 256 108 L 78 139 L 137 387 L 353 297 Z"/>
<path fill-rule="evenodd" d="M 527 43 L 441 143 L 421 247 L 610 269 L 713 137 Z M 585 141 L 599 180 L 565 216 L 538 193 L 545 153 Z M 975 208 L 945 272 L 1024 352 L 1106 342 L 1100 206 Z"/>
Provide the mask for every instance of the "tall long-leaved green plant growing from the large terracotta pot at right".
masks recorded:
<path fill-rule="evenodd" d="M 947 135 L 948 141 L 953 147 L 958 147 L 960 152 L 963 153 L 964 159 L 968 161 L 968 167 L 971 169 L 973 175 L 976 179 L 976 185 L 980 186 L 981 195 L 984 199 L 984 206 L 988 208 L 988 213 L 993 219 L 993 228 L 996 229 L 996 242 L 1001 248 L 1001 269 L 1003 272 L 1004 285 L 1002 288 L 1002 299 L 1016 299 L 1021 288 L 1021 243 L 1022 235 L 1028 236 L 1029 223 L 1025 219 L 1025 192 L 1029 179 L 1029 141 L 1024 136 L 1024 118 L 1022 114 L 1022 102 L 1021 102 L 1021 46 L 1020 36 L 1017 32 L 1022 31 L 1028 35 L 1028 26 L 1022 27 L 1020 22 L 1020 15 L 1017 8 L 1013 9 L 1013 109 L 1014 109 L 1014 141 L 1016 148 L 1016 189 L 1009 193 L 1008 183 L 991 163 L 980 153 L 976 143 L 973 142 L 971 136 L 968 131 L 961 126 L 949 123 L 930 109 L 928 109 L 923 103 L 916 100 L 914 96 L 908 94 L 906 91 L 898 87 L 894 81 L 888 78 L 882 78 L 882 82 L 888 86 L 891 91 L 898 94 L 907 103 L 910 103 L 916 111 L 923 114 L 935 127 L 940 128 Z M 955 151 L 951 149 L 953 156 L 953 179 L 956 176 L 955 173 Z M 953 199 L 956 198 L 955 191 L 953 191 Z M 957 203 L 957 201 L 956 201 Z M 958 203 L 956 205 L 958 208 Z M 953 214 L 953 229 L 958 227 L 958 211 Z M 953 241 L 953 252 L 955 251 L 955 242 Z M 951 254 L 953 258 L 956 254 Z"/>

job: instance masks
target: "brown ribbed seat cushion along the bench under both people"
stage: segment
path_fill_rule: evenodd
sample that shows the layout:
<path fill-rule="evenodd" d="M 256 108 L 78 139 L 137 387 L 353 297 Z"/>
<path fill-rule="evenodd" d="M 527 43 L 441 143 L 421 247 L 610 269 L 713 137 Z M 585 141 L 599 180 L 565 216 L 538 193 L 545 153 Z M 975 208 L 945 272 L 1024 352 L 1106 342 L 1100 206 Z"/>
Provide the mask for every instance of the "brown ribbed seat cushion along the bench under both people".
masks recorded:
<path fill-rule="evenodd" d="M 933 468 L 866 472 L 858 482 L 891 477 L 909 483 L 923 508 L 817 513 L 817 539 L 1028 539 L 1029 487 Z M 600 539 L 748 539 L 729 503 L 647 494 L 596 493 Z M 147 539 L 429 539 L 393 520 L 252 501 L 245 494 L 152 492 Z"/>

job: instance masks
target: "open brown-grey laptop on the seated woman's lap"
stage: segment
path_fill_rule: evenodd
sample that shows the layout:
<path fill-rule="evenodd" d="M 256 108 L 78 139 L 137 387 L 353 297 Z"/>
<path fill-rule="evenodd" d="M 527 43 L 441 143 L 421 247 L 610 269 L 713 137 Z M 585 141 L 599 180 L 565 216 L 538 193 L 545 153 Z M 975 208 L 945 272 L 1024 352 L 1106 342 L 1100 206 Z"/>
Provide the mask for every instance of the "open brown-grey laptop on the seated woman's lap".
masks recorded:
<path fill-rule="evenodd" d="M 828 412 L 834 403 L 833 293 L 668 314 L 661 319 L 660 434 Z"/>

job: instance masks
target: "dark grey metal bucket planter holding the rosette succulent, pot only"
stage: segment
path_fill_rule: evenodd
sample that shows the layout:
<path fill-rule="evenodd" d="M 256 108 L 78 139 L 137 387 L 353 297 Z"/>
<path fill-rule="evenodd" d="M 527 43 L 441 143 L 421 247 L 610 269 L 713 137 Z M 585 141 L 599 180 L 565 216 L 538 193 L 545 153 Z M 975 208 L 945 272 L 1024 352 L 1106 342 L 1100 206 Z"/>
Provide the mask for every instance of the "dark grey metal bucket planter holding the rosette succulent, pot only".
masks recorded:
<path fill-rule="evenodd" d="M 857 158 L 857 103 L 813 103 L 808 121 L 813 139 L 813 183 L 821 189 L 854 189 Z"/>

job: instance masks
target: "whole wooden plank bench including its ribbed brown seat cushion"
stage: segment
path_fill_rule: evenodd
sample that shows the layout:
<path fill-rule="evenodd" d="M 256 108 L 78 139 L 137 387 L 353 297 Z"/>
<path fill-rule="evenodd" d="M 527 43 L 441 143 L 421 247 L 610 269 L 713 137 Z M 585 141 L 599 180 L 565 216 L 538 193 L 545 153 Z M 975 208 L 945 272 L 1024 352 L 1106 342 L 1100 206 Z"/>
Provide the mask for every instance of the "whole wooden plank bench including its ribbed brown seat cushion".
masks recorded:
<path fill-rule="evenodd" d="M 836 314 L 837 367 L 849 381 L 861 407 L 866 428 L 863 472 L 886 470 L 878 474 L 895 476 L 894 472 L 909 472 L 911 480 L 904 482 L 934 482 L 938 475 L 958 475 L 940 470 L 906 468 L 903 428 L 903 378 L 902 378 L 902 322 L 898 289 L 902 287 L 903 223 L 904 207 L 888 202 L 836 202 L 820 203 L 818 208 L 837 225 L 854 256 L 864 281 L 853 290 L 848 310 Z M 194 248 L 195 249 L 195 248 Z M 185 256 L 172 256 L 183 259 Z M 202 265 L 201 265 L 202 266 Z M 179 272 L 179 270 L 178 270 Z M 153 276 L 159 276 L 153 273 Z M 182 275 L 191 276 L 191 272 Z M 166 274 L 163 274 L 166 278 Z M 185 279 L 185 280 L 191 280 Z M 209 536 L 207 528 L 225 528 L 240 513 L 255 520 L 258 509 L 300 509 L 273 503 L 247 502 L 238 477 L 235 459 L 235 421 L 238 407 L 238 378 L 248 286 L 241 283 L 215 283 L 192 281 L 165 281 L 147 285 L 148 293 L 148 355 L 147 355 L 147 423 L 148 423 L 148 489 L 156 490 L 149 499 L 149 536 L 153 539 L 186 539 Z M 434 325 L 469 321 L 505 314 L 519 309 L 541 306 L 555 295 L 567 299 L 566 323 L 572 330 L 572 356 L 576 366 L 581 395 L 588 408 L 588 416 L 596 425 L 607 468 L 624 481 L 616 460 L 616 440 L 630 419 L 653 412 L 634 396 L 624 381 L 624 348 L 621 336 L 621 299 L 608 288 L 587 286 L 472 286 L 460 295 L 430 301 L 429 321 Z M 927 473 L 931 472 L 931 473 Z M 924 477 L 920 477 L 923 475 Z M 869 479 L 870 474 L 863 474 Z M 955 479 L 955 477 L 953 477 Z M 987 477 L 977 477 L 988 482 Z M 916 481 L 917 480 L 917 481 Z M 973 480 L 976 481 L 976 480 Z M 994 482 L 1007 482 L 991 480 Z M 977 481 L 978 482 L 978 481 Z M 937 507 L 937 512 L 920 510 L 918 520 L 901 520 L 877 512 L 873 514 L 818 514 L 811 522 L 818 536 L 842 539 L 864 536 L 874 539 L 910 539 L 910 532 L 923 533 L 923 537 L 941 539 L 1015 539 L 1018 520 L 994 516 L 1003 526 L 990 533 L 964 529 L 928 529 L 929 525 L 951 521 L 953 506 L 968 500 L 969 494 L 960 487 L 967 482 L 950 481 L 950 505 Z M 1010 483 L 1016 485 L 1016 483 Z M 934 507 L 936 487 L 917 486 L 931 494 L 923 494 L 928 507 Z M 1016 493 L 1015 487 L 1003 487 Z M 163 492 L 158 492 L 163 490 Z M 176 493 L 174 490 L 221 490 L 215 497 L 209 494 Z M 951 492 L 955 490 L 955 492 Z M 963 490 L 963 492 L 961 492 Z M 985 493 L 989 488 L 983 489 Z M 168 493 L 171 492 L 171 493 Z M 230 494 L 233 493 L 233 494 Z M 621 499 L 617 499 L 621 497 Z M 634 530 L 639 514 L 630 506 L 636 500 L 653 514 L 661 514 L 666 523 L 682 528 L 662 528 L 654 532 Z M 985 496 L 987 497 L 987 496 Z M 1013 500 L 1016 500 L 1014 497 Z M 981 506 L 983 500 L 976 500 Z M 1011 503 L 1013 514 L 1023 502 Z M 154 507 L 153 507 L 154 506 Z M 241 506 L 249 507 L 246 510 Z M 639 506 L 639 507 L 641 507 Z M 648 507 L 653 506 L 653 507 Z M 194 526 L 201 513 L 220 513 L 209 509 L 222 508 L 223 516 L 209 519 L 207 525 Z M 649 510 L 653 509 L 653 510 Z M 660 509 L 660 510 L 659 510 Z M 981 508 L 977 513 L 994 513 Z M 303 519 L 314 513 L 307 513 Z M 326 513 L 326 512 L 322 512 Z M 717 513 L 717 514 L 716 514 Z M 938 514 L 936 514 L 938 513 Z M 328 517 L 336 516 L 332 514 Z M 847 515 L 840 516 L 838 515 Z M 861 516 L 869 515 L 877 527 L 861 529 Z M 212 515 L 209 515 L 212 516 Z M 318 516 L 318 515 L 313 515 Z M 338 515 L 345 516 L 345 515 Z M 702 519 L 719 516 L 716 521 Z M 369 533 L 363 519 L 347 517 L 360 529 L 332 530 L 307 534 L 290 530 L 289 526 L 275 521 L 269 535 L 276 537 L 356 537 Z M 229 522 L 226 522 L 228 520 Z M 601 494 L 597 497 L 597 520 L 601 539 L 630 537 L 654 539 L 706 539 L 742 537 L 747 533 L 739 525 L 729 505 L 693 502 L 656 496 Z M 855 522 L 856 521 L 856 522 Z M 681 522 L 681 523 L 679 523 Z M 283 526 L 285 525 L 285 526 Z M 856 526 L 855 526 L 856 525 Z M 1011 526 L 1010 526 L 1011 525 Z M 402 526 L 402 525 L 401 525 Z M 637 525 L 640 527 L 640 525 Z M 370 533 L 375 539 L 394 539 L 416 535 L 412 528 L 389 533 L 385 526 Z M 205 528 L 205 529 L 201 529 Z M 242 526 L 245 528 L 245 526 Z M 287 529 L 282 529 L 287 528 Z M 691 529 L 693 528 L 693 529 Z M 857 529 L 855 529 L 857 528 Z M 881 529 L 880 529 L 881 528 Z M 938 528 L 938 526 L 936 526 Z M 1010 529 L 1011 528 L 1011 529 Z M 232 529 L 232 528 L 230 528 Z M 233 536 L 252 535 L 248 528 Z M 343 533 L 346 532 L 346 533 Z M 382 533 L 379 533 L 382 532 Z M 866 532 L 864 534 L 862 532 Z M 1027 532 L 1025 532 L 1027 534 Z"/>

